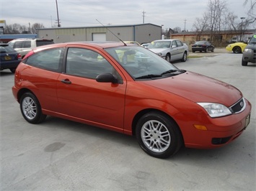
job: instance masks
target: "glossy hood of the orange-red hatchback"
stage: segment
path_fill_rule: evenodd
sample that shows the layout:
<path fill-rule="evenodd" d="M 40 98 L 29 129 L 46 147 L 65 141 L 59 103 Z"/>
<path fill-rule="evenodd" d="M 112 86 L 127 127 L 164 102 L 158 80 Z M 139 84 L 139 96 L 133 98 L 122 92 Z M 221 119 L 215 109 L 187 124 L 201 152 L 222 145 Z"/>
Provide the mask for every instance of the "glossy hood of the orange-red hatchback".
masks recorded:
<path fill-rule="evenodd" d="M 221 103 L 231 106 L 242 98 L 242 93 L 234 86 L 192 72 L 160 80 L 144 81 L 144 83 L 193 102 Z"/>

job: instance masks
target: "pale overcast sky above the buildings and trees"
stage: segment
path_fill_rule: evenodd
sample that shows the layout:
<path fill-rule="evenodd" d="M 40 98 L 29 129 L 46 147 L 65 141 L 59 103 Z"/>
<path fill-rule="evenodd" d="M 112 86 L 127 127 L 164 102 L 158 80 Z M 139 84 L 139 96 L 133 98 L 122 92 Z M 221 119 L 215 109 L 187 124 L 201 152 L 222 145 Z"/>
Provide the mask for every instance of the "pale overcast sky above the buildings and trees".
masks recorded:
<path fill-rule="evenodd" d="M 226 1 L 238 18 L 247 17 L 244 0 Z M 163 28 L 191 30 L 195 18 L 203 17 L 208 0 L 58 0 L 61 27 L 151 23 Z M 143 12 L 144 16 L 143 17 Z M 144 19 L 143 19 L 144 18 Z M 0 19 L 6 24 L 40 23 L 45 28 L 57 26 L 56 0 L 0 0 Z"/>

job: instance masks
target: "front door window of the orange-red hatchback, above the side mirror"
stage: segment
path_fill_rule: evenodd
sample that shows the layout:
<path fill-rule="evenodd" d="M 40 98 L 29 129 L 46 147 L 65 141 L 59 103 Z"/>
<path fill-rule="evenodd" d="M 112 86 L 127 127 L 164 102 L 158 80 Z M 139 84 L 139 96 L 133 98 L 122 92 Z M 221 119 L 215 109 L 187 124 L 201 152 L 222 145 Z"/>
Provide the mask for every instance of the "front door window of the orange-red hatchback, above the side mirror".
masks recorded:
<path fill-rule="evenodd" d="M 115 73 L 110 62 L 97 52 L 83 48 L 69 48 L 66 58 L 66 73 L 95 79 L 102 73 Z"/>

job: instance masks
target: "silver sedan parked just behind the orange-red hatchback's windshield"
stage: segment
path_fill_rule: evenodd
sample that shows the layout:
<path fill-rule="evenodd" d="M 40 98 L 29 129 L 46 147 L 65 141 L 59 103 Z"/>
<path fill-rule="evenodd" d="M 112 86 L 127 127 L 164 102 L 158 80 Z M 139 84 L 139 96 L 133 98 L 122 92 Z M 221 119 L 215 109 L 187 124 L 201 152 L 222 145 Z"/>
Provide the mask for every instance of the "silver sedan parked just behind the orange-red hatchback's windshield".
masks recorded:
<path fill-rule="evenodd" d="M 179 39 L 158 39 L 151 42 L 147 48 L 168 62 L 185 62 L 189 53 L 187 45 Z"/>

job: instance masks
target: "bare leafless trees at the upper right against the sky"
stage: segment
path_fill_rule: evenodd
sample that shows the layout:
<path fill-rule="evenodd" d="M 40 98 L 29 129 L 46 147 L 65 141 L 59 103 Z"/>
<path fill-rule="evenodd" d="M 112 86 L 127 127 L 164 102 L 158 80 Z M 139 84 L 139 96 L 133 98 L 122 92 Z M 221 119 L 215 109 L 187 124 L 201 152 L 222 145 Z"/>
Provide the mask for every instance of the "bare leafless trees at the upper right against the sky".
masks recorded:
<path fill-rule="evenodd" d="M 195 32 L 200 38 L 200 34 L 208 32 L 211 34 L 211 41 L 221 41 L 218 34 L 221 31 L 234 32 L 237 35 L 237 39 L 242 39 L 243 32 L 248 27 L 255 27 L 256 21 L 256 0 L 245 0 L 244 5 L 250 4 L 250 10 L 245 17 L 237 17 L 233 12 L 229 11 L 226 1 L 224 0 L 209 0 L 207 11 L 203 14 L 203 17 L 196 18 L 193 24 Z M 242 11 L 241 11 L 242 14 Z"/>

